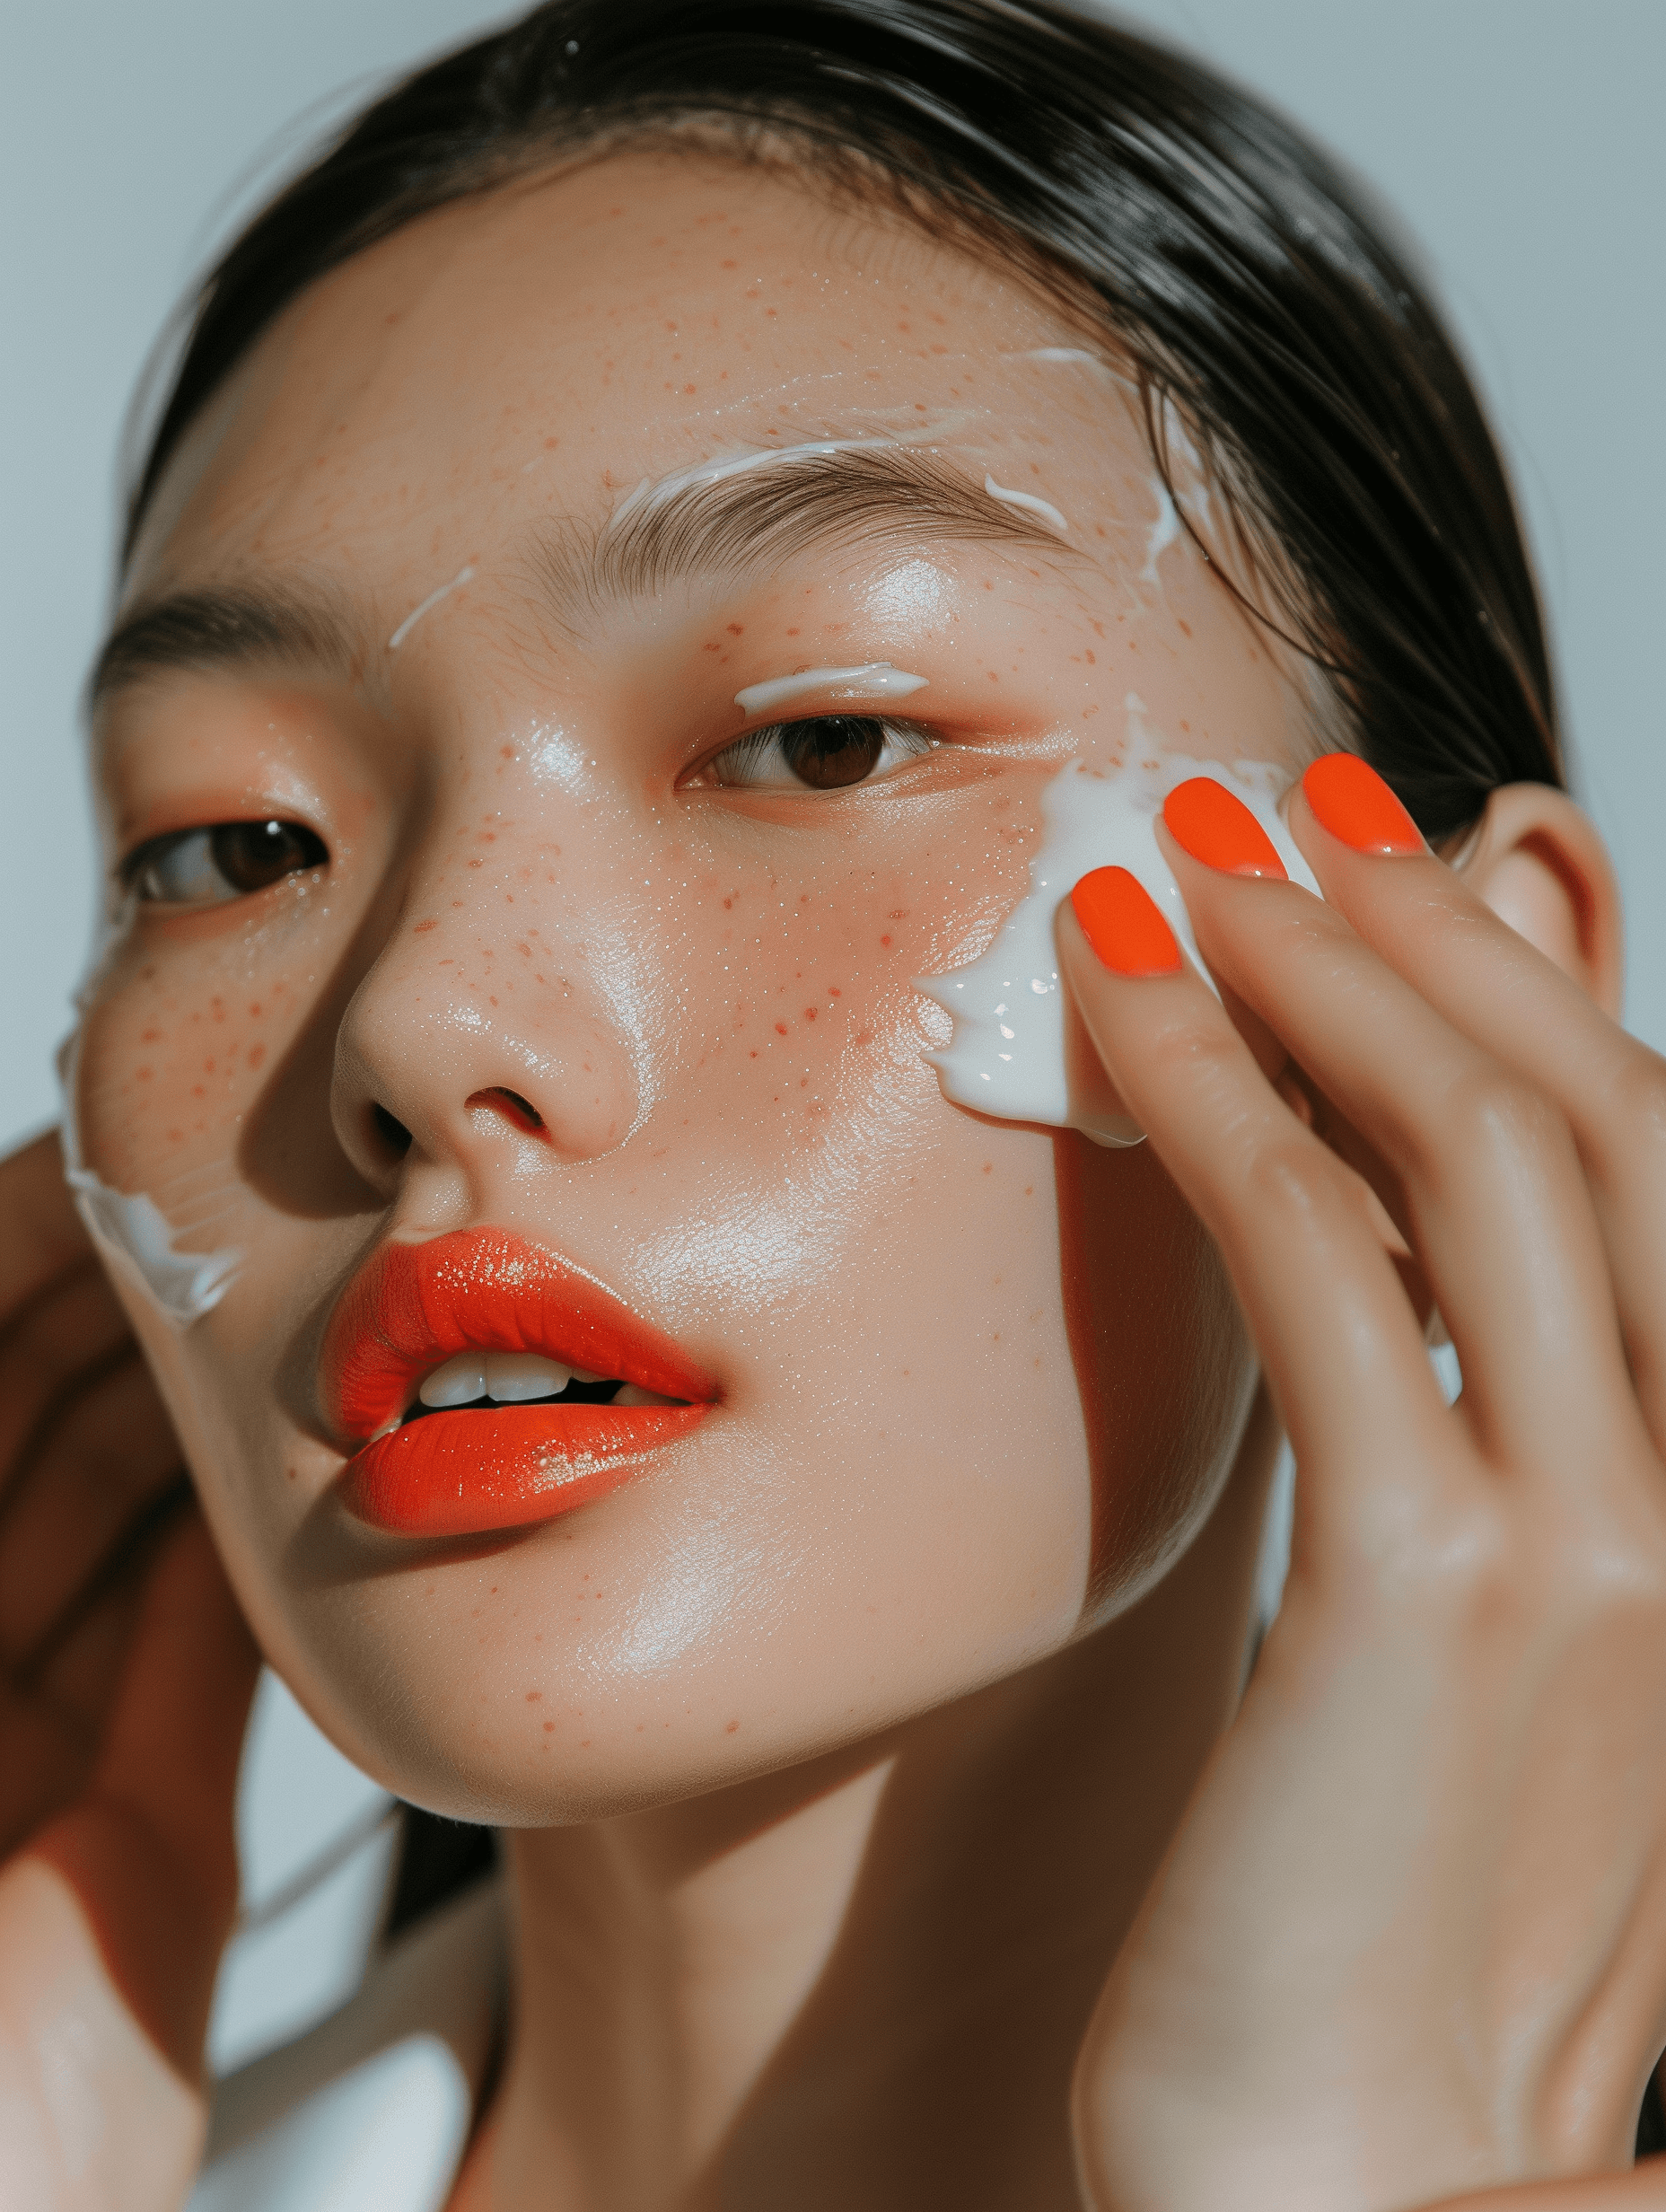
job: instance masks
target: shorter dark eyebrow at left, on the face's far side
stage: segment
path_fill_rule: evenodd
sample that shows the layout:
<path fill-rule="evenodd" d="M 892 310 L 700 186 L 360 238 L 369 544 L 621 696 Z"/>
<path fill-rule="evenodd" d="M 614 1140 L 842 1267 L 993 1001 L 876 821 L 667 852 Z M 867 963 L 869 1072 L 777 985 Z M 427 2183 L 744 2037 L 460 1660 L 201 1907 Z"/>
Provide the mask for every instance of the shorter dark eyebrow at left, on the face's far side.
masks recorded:
<path fill-rule="evenodd" d="M 86 706 L 93 712 L 111 692 L 168 668 L 299 661 L 350 675 L 356 659 L 345 622 L 321 593 L 179 591 L 137 608 L 111 633 L 86 679 Z"/>

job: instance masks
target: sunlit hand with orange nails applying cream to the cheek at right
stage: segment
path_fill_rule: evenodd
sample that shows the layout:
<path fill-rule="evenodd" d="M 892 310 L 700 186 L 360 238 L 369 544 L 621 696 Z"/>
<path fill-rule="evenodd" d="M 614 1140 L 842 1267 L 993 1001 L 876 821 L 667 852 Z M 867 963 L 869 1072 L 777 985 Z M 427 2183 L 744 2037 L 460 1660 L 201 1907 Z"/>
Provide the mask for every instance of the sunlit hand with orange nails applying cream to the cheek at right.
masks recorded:
<path fill-rule="evenodd" d="M 1164 832 L 1243 1033 L 1060 916 L 1299 1467 L 1283 1610 L 1082 2055 L 1100 2212 L 1666 2205 L 1624 2172 L 1666 2042 L 1666 1064 L 1401 823 L 1356 852 L 1294 794 L 1325 905 Z"/>

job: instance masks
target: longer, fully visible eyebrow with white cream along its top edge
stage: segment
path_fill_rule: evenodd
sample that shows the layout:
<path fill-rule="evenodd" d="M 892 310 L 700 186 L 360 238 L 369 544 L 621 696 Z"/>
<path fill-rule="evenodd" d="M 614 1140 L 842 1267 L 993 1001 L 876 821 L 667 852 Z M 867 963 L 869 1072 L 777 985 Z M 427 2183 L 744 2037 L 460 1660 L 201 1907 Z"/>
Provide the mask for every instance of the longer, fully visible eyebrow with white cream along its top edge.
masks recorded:
<path fill-rule="evenodd" d="M 695 575 L 746 577 L 830 542 L 850 546 L 1022 546 L 1051 560 L 1082 555 L 1058 531 L 991 498 L 940 453 L 781 453 L 706 480 L 673 480 L 664 498 L 633 493 L 600 529 L 542 524 L 535 566 L 569 622 L 611 599 L 653 599 Z"/>

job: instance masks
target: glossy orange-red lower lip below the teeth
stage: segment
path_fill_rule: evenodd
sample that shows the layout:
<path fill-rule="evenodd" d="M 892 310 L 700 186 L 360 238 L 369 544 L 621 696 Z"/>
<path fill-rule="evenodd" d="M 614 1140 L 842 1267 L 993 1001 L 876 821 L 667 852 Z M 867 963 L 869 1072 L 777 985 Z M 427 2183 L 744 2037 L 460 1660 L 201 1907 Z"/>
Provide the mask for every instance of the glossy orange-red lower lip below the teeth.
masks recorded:
<path fill-rule="evenodd" d="M 389 1535 L 527 1528 L 604 1498 L 704 1420 L 704 1405 L 425 1413 L 354 1453 L 347 1509 Z"/>

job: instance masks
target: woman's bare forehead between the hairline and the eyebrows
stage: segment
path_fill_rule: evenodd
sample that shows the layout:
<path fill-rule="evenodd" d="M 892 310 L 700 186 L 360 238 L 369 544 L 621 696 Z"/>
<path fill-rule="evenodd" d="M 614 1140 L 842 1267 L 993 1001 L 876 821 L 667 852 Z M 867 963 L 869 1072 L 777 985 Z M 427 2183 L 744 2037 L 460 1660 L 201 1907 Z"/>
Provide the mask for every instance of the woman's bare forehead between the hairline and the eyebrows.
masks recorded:
<path fill-rule="evenodd" d="M 1108 347 L 993 257 L 637 153 L 445 208 L 292 303 L 186 436 L 131 588 L 305 566 L 394 591 L 816 440 L 947 453 L 1137 566 L 1150 465 Z"/>

